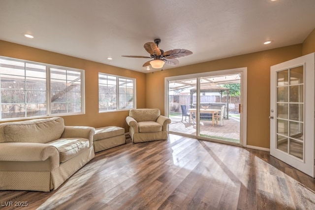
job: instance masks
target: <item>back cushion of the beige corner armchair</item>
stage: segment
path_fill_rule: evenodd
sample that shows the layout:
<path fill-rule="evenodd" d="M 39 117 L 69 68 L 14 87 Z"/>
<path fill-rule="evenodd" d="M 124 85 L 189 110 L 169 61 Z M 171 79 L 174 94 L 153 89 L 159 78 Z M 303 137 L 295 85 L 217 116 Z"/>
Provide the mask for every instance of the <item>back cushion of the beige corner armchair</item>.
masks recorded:
<path fill-rule="evenodd" d="M 137 122 L 157 121 L 160 111 L 159 109 L 131 109 L 129 116 Z"/>

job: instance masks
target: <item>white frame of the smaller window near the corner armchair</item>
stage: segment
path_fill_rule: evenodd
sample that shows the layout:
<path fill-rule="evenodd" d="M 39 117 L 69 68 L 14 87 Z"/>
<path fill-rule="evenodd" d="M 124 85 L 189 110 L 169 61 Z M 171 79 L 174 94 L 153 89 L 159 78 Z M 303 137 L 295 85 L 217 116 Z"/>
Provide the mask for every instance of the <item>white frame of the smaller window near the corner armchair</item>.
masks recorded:
<path fill-rule="evenodd" d="M 116 78 L 116 109 L 112 109 L 112 110 L 103 110 L 100 111 L 100 92 L 99 92 L 99 80 L 100 80 L 100 75 L 103 76 L 110 76 L 110 77 L 115 77 Z M 120 84 L 119 81 L 120 79 L 124 79 L 124 80 L 132 80 L 132 95 L 133 95 L 133 100 L 132 100 L 132 107 L 131 108 L 120 108 Z M 135 78 L 131 78 L 131 77 L 124 77 L 124 76 L 119 76 L 119 75 L 113 75 L 113 74 L 107 74 L 104 72 L 98 72 L 98 113 L 108 113 L 108 112 L 117 112 L 117 111 L 126 111 L 126 110 L 130 110 L 130 109 L 136 109 L 136 79 Z"/>

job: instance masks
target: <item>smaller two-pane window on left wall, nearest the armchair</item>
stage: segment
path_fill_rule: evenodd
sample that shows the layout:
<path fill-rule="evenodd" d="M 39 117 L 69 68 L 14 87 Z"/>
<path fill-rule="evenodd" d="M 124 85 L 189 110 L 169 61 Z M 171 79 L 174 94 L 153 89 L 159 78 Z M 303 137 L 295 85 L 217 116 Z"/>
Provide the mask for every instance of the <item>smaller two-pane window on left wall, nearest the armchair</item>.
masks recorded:
<path fill-rule="evenodd" d="M 135 108 L 135 79 L 98 73 L 99 112 Z"/>

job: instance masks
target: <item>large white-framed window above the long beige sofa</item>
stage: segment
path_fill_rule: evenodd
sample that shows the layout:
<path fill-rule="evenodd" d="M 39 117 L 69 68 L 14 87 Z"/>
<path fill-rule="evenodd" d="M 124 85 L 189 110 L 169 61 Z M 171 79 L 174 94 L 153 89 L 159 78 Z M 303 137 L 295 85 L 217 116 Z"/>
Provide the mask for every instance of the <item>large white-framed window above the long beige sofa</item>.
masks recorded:
<path fill-rule="evenodd" d="M 0 57 L 0 120 L 84 113 L 84 70 Z"/>

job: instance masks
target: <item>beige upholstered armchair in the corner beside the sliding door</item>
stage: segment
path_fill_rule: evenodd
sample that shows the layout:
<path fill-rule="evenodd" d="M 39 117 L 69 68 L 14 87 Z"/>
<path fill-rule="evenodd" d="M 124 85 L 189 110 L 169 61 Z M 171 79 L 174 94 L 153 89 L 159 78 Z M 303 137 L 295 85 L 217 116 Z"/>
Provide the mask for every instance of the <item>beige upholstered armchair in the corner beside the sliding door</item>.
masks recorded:
<path fill-rule="evenodd" d="M 171 120 L 160 115 L 159 109 L 131 109 L 126 117 L 133 143 L 167 139 L 167 124 Z"/>

